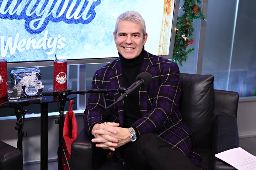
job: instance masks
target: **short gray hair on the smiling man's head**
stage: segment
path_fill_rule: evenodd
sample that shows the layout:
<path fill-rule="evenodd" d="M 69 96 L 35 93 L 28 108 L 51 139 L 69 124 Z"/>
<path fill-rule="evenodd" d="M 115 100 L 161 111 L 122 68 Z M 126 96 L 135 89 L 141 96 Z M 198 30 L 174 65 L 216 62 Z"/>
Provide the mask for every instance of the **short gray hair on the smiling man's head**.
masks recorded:
<path fill-rule="evenodd" d="M 135 23 L 140 23 L 142 24 L 142 29 L 143 29 L 143 36 L 146 35 L 146 24 L 145 24 L 145 21 L 144 19 L 142 18 L 142 16 L 138 13 L 138 12 L 135 12 L 135 11 L 127 11 L 127 12 L 124 12 L 122 13 L 118 18 L 117 18 L 117 21 L 116 21 L 116 27 L 115 27 L 115 30 L 114 30 L 114 33 L 117 35 L 117 26 L 119 24 L 120 21 L 123 21 L 123 20 L 128 20 L 128 21 L 132 21 L 132 22 L 135 22 Z"/>

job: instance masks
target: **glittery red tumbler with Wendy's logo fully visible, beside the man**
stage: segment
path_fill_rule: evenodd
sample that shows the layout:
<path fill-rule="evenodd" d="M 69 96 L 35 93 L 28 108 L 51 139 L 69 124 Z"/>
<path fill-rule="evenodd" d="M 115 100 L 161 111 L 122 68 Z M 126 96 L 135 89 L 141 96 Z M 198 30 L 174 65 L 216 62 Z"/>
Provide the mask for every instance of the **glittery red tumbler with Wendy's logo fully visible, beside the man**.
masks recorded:
<path fill-rule="evenodd" d="M 53 91 L 67 89 L 68 60 L 58 59 L 53 61 Z"/>

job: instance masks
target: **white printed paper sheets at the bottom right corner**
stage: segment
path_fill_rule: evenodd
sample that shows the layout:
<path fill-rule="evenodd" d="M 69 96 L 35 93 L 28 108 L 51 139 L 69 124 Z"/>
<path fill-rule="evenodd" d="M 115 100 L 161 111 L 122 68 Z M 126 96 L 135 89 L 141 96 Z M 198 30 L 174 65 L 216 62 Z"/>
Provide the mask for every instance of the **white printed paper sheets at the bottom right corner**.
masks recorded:
<path fill-rule="evenodd" d="M 220 152 L 215 157 L 238 170 L 256 170 L 256 157 L 240 147 Z"/>

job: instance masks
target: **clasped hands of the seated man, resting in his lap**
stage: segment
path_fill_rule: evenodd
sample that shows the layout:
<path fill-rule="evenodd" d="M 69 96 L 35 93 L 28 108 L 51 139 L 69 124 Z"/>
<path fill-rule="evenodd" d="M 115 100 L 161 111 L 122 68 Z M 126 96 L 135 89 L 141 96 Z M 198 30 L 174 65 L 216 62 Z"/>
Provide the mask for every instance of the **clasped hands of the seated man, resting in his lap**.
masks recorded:
<path fill-rule="evenodd" d="M 95 138 L 91 141 L 96 143 L 96 147 L 111 151 L 130 142 L 129 130 L 119 127 L 119 123 L 114 122 L 95 124 L 92 128 L 92 135 Z"/>

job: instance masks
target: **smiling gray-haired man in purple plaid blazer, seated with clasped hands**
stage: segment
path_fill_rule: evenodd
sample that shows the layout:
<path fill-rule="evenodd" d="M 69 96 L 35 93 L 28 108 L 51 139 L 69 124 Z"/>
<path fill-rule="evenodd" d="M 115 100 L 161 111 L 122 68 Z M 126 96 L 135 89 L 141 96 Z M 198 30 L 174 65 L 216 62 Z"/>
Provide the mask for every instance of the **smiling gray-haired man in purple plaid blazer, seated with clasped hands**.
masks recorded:
<path fill-rule="evenodd" d="M 139 13 L 120 15 L 114 31 L 119 58 L 97 70 L 92 80 L 93 89 L 118 89 L 129 87 L 141 72 L 152 76 L 148 86 L 108 111 L 121 94 L 90 94 L 84 128 L 96 147 L 113 152 L 100 169 L 201 169 L 201 157 L 191 151 L 192 135 L 179 111 L 179 68 L 145 51 L 147 38 Z"/>

